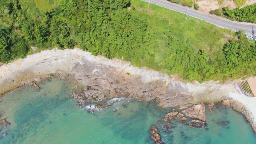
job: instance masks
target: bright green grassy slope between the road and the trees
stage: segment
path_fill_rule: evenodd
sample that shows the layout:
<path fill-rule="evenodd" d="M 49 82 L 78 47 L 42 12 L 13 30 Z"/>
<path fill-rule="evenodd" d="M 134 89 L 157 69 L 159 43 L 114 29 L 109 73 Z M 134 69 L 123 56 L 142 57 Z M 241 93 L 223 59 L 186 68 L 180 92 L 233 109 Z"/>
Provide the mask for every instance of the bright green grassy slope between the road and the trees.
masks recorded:
<path fill-rule="evenodd" d="M 210 56 L 222 50 L 230 38 L 234 36 L 231 30 L 219 28 L 191 16 L 185 20 L 185 15 L 154 4 L 140 0 L 131 0 L 131 6 L 136 8 L 133 14 L 144 15 L 148 21 L 148 30 L 155 32 L 159 47 L 164 47 L 163 33 L 175 36 L 180 41 L 189 42 L 196 50 L 205 50 Z M 161 50 L 160 50 L 161 51 Z M 158 52 L 161 57 L 161 52 Z"/>

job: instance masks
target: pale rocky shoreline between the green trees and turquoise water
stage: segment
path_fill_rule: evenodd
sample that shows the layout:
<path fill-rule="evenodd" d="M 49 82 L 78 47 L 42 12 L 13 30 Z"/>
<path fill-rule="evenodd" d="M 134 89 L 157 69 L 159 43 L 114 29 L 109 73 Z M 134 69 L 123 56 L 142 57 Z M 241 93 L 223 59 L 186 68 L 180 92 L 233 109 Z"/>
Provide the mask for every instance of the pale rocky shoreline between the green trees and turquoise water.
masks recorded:
<path fill-rule="evenodd" d="M 191 118 L 190 127 L 206 124 L 205 104 L 223 102 L 231 99 L 229 93 L 239 93 L 236 81 L 225 84 L 215 81 L 202 84 L 196 81 L 185 83 L 175 76 L 137 68 L 118 59 L 93 56 L 75 48 L 42 51 L 1 66 L 0 95 L 24 84 L 32 84 L 39 91 L 38 82 L 54 77 L 52 74 L 58 74 L 60 79 L 72 78 L 77 81 L 77 90 L 71 97 L 78 99 L 76 104 L 79 107 L 87 106 L 87 101 L 95 103 L 120 96 L 153 100 L 158 106 L 177 108 L 178 113 L 170 112 L 164 120 L 179 119 L 182 122 Z M 108 104 L 103 103 L 96 105 L 96 108 L 107 106 Z M 238 104 L 233 106 L 240 108 Z M 256 122 L 248 112 L 243 114 L 256 132 Z"/>

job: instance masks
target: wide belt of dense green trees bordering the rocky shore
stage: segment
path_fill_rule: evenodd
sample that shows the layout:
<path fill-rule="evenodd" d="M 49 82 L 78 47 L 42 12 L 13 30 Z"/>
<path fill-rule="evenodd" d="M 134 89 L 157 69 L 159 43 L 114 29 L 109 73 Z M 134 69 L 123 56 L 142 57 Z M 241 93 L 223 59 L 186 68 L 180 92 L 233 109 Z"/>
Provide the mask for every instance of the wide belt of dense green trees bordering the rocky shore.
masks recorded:
<path fill-rule="evenodd" d="M 147 17 L 130 0 L 42 1 L 0 1 L 1 62 L 24 58 L 33 52 L 30 46 L 39 50 L 77 46 L 94 55 L 123 57 L 136 66 L 179 74 L 187 80 L 256 74 L 255 42 L 242 32 L 212 54 L 192 46 L 188 39 L 180 40 L 172 29 L 158 38 L 148 29 Z"/>

